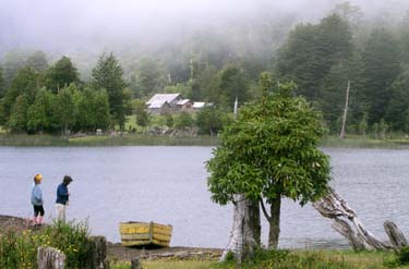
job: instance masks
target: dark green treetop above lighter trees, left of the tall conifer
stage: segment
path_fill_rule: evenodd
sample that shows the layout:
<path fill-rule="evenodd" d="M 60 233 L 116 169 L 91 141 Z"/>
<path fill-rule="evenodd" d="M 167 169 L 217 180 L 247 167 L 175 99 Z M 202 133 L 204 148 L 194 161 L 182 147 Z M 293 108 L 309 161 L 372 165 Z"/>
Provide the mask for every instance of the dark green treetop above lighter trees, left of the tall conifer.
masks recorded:
<path fill-rule="evenodd" d="M 47 72 L 47 86 L 57 93 L 63 87 L 68 87 L 71 83 L 79 83 L 79 72 L 72 64 L 71 59 L 62 57 Z"/>

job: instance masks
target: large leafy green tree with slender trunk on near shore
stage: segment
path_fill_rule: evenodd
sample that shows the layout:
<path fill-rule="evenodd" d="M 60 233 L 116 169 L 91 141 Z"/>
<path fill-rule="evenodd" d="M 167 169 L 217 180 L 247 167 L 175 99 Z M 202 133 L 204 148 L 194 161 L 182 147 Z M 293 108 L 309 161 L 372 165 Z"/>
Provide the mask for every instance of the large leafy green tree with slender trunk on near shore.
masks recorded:
<path fill-rule="evenodd" d="M 264 74 L 263 88 L 270 87 Z M 269 248 L 279 236 L 281 197 L 301 205 L 321 198 L 329 181 L 328 157 L 317 148 L 324 134 L 321 118 L 305 99 L 293 97 L 293 84 L 281 84 L 240 109 L 221 133 L 220 146 L 207 162 L 212 199 L 226 205 L 236 194 L 269 205 Z M 264 208 L 265 209 L 265 208 Z"/>

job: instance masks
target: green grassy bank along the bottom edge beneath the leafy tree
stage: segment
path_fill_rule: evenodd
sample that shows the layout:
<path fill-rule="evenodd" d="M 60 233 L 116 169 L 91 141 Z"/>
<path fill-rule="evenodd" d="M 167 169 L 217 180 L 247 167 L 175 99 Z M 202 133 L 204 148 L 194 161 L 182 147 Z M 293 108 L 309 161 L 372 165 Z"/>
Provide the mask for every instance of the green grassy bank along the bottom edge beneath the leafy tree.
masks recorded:
<path fill-rule="evenodd" d="M 279 250 L 261 252 L 254 260 L 238 266 L 236 261 L 217 262 L 209 260 L 142 260 L 148 269 L 408 269 L 394 253 L 351 250 Z M 129 269 L 130 262 L 113 262 L 112 269 Z"/>

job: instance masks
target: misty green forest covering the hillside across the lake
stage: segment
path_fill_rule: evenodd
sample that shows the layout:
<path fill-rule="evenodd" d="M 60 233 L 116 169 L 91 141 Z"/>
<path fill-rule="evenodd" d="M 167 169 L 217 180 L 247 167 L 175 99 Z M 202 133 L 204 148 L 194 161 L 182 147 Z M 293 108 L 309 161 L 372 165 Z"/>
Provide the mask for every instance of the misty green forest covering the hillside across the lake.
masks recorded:
<path fill-rule="evenodd" d="M 375 16 L 350 2 L 335 3 L 313 20 L 269 11 L 166 37 L 167 42 L 112 46 L 98 56 L 2 51 L 0 126 L 10 133 L 95 133 L 123 130 L 130 115 L 149 126 L 144 102 L 154 94 L 179 93 L 213 106 L 166 123 L 216 134 L 236 98 L 240 108 L 260 97 L 260 77 L 267 72 L 274 85 L 294 83 L 296 95 L 321 111 L 329 134 L 340 132 L 350 85 L 347 134 L 405 135 L 409 13 L 394 11 Z"/>

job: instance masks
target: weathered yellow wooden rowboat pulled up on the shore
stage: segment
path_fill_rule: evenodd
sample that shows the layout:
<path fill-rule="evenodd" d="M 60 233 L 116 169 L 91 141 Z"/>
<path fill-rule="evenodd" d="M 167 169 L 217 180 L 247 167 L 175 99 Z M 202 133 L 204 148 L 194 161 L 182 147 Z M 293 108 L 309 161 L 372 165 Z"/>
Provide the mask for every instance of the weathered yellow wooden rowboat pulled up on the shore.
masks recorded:
<path fill-rule="evenodd" d="M 119 233 L 123 246 L 169 246 L 172 225 L 151 222 L 120 222 Z"/>

